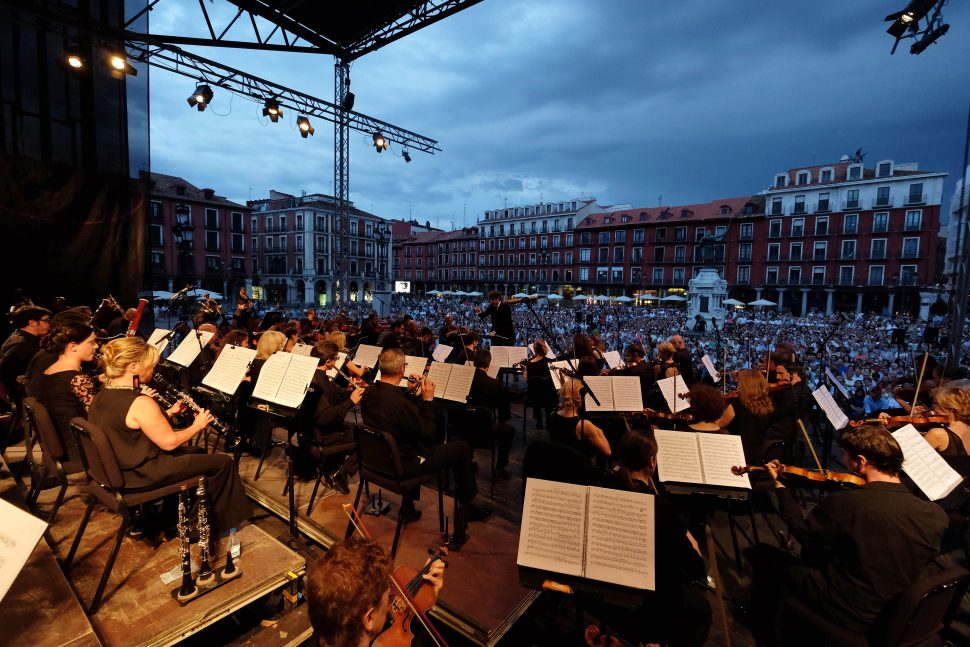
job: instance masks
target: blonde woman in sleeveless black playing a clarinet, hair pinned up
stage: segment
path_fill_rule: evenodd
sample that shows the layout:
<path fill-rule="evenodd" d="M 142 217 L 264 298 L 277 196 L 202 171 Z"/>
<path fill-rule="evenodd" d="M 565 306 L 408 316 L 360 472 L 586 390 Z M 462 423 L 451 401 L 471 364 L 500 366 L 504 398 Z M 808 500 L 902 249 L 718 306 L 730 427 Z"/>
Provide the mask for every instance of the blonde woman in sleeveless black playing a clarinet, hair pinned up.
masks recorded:
<path fill-rule="evenodd" d="M 231 456 L 185 446 L 212 422 L 212 414 L 202 410 L 185 429 L 172 429 L 155 400 L 136 388 L 151 380 L 158 359 L 158 350 L 138 337 L 109 342 L 102 351 L 105 387 L 91 402 L 88 420 L 108 437 L 125 489 L 205 476 L 215 538 L 249 517 L 249 501 Z"/>

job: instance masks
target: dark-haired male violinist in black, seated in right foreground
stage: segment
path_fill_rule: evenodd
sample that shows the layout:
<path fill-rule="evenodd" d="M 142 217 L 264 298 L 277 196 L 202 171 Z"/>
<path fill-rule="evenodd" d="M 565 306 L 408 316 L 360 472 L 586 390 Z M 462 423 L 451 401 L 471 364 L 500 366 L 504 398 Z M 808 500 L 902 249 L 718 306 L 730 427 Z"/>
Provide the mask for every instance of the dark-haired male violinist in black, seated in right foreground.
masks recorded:
<path fill-rule="evenodd" d="M 911 494 L 899 480 L 903 452 L 882 426 L 847 428 L 838 440 L 843 463 L 865 480 L 829 494 L 807 518 L 765 465 L 800 557 L 759 544 L 752 553 L 752 612 L 759 645 L 783 644 L 784 598 L 795 596 L 829 621 L 864 632 L 882 608 L 909 587 L 940 550 L 943 509 Z"/>

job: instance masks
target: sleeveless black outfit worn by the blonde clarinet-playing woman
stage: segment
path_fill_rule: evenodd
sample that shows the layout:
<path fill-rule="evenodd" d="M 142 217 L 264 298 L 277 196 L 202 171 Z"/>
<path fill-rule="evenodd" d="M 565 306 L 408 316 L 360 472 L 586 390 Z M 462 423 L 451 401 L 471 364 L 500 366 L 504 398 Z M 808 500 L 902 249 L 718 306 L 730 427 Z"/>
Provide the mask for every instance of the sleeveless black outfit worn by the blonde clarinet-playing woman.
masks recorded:
<path fill-rule="evenodd" d="M 216 536 L 249 518 L 250 505 L 236 465 L 227 454 L 206 454 L 196 447 L 163 451 L 125 417 L 140 393 L 105 388 L 94 397 L 88 420 L 104 431 L 114 450 L 126 490 L 147 490 L 193 476 L 206 477 L 211 522 Z"/>

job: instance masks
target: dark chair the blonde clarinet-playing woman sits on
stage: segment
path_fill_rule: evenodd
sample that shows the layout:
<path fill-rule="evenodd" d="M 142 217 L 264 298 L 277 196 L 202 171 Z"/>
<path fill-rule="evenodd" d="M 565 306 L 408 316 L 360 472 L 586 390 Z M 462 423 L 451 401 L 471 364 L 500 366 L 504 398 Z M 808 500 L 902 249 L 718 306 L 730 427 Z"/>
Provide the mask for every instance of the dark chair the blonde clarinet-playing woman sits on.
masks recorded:
<path fill-rule="evenodd" d="M 149 490 L 125 490 L 121 467 L 118 465 L 111 443 L 101 428 L 84 418 L 74 418 L 71 420 L 71 426 L 77 434 L 78 445 L 81 449 L 81 460 L 90 479 L 87 487 L 87 494 L 90 497 L 87 509 L 84 511 L 84 517 L 81 519 L 81 525 L 74 537 L 74 543 L 71 544 L 71 550 L 64 562 L 64 571 L 67 572 L 71 568 L 78 546 L 81 544 L 81 537 L 91 520 L 91 513 L 94 511 L 95 504 L 100 503 L 111 512 L 121 516 L 121 525 L 118 528 L 118 534 L 115 536 L 108 561 L 105 563 L 104 572 L 101 574 L 101 581 L 98 583 L 98 589 L 91 601 L 91 606 L 88 607 L 88 613 L 94 614 L 101 606 L 101 596 L 104 594 L 111 569 L 114 567 L 118 551 L 121 549 L 121 542 L 131 524 L 132 509 L 140 504 L 177 494 L 183 485 L 196 488 L 199 485 L 199 477 L 194 476 Z"/>

